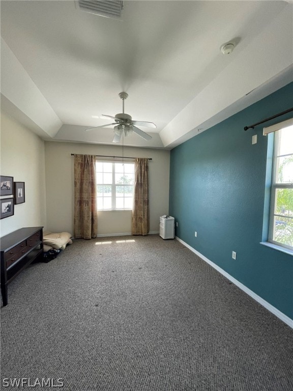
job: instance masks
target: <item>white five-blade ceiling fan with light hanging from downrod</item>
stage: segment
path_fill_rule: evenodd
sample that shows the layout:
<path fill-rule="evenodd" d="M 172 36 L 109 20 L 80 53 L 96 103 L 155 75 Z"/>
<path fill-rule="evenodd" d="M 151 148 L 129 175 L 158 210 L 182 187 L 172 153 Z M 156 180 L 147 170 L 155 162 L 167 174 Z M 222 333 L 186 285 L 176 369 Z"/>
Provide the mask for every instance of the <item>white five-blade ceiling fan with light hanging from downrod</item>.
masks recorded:
<path fill-rule="evenodd" d="M 122 99 L 122 113 L 116 114 L 115 117 L 102 115 L 101 117 L 110 118 L 114 120 L 115 122 L 112 122 L 111 124 L 106 125 L 100 125 L 100 126 L 94 126 L 93 128 L 85 129 L 85 131 L 90 131 L 92 129 L 97 128 L 103 128 L 110 125 L 114 126 L 114 138 L 113 143 L 119 143 L 122 135 L 127 136 L 131 132 L 134 132 L 138 134 L 140 137 L 144 138 L 145 140 L 149 141 L 152 136 L 150 136 L 148 133 L 143 132 L 141 129 L 137 128 L 138 126 L 146 126 L 148 128 L 156 128 L 156 125 L 153 122 L 145 122 L 145 121 L 133 121 L 131 116 L 129 114 L 124 113 L 124 101 L 127 99 L 128 94 L 126 92 L 121 92 L 119 94 L 120 98 Z"/>

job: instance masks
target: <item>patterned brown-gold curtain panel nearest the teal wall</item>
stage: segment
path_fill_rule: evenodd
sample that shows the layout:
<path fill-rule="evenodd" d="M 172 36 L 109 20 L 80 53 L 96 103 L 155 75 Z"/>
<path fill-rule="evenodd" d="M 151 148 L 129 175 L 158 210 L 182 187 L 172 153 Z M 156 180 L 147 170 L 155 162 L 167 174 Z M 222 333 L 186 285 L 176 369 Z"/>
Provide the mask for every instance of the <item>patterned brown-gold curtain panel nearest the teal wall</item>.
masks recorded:
<path fill-rule="evenodd" d="M 146 236 L 149 232 L 149 159 L 135 158 L 132 235 Z"/>

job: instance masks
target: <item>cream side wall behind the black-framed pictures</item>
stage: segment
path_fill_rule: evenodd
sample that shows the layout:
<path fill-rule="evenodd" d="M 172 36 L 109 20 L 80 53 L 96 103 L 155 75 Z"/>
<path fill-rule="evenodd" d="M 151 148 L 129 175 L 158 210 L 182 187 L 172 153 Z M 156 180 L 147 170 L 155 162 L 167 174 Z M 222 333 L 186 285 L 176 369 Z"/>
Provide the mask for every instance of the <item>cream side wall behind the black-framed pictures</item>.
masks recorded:
<path fill-rule="evenodd" d="M 13 216 L 0 220 L 1 236 L 22 227 L 46 225 L 44 152 L 40 137 L 1 111 L 0 174 L 25 182 L 25 203 L 14 206 Z"/>

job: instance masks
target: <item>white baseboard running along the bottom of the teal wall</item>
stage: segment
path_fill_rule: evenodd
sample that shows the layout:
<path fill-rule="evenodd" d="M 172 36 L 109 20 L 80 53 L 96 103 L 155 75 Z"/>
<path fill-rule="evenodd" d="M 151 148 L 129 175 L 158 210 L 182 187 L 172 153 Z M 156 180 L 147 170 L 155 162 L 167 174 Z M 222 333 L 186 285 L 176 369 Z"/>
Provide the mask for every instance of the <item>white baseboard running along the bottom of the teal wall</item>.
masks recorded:
<path fill-rule="evenodd" d="M 249 296 L 251 296 L 254 300 L 256 300 L 258 303 L 263 305 L 267 310 L 269 310 L 272 314 L 276 315 L 279 319 L 281 319 L 284 323 L 286 323 L 288 326 L 293 328 L 293 319 L 289 318 L 287 315 L 283 314 L 281 311 L 279 311 L 277 308 L 275 308 L 272 304 L 270 304 L 268 301 L 263 300 L 260 296 L 258 296 L 256 293 L 254 293 L 252 290 L 247 288 L 245 285 L 240 283 L 236 278 L 232 277 L 230 274 L 228 274 L 225 270 L 220 268 L 218 265 L 216 265 L 214 262 L 210 261 L 207 257 L 204 257 L 204 255 L 200 254 L 196 249 L 191 247 L 189 244 L 185 243 L 183 240 L 181 240 L 179 237 L 175 236 L 175 239 L 177 239 L 180 243 L 182 243 L 184 246 L 189 248 L 194 254 L 198 255 L 199 258 L 201 258 L 203 261 L 207 262 L 209 265 L 211 265 L 213 268 L 215 268 L 217 271 L 219 271 L 221 274 L 223 274 L 228 280 L 230 280 L 233 284 L 238 286 L 240 289 L 242 289 L 245 293 L 247 293 Z"/>

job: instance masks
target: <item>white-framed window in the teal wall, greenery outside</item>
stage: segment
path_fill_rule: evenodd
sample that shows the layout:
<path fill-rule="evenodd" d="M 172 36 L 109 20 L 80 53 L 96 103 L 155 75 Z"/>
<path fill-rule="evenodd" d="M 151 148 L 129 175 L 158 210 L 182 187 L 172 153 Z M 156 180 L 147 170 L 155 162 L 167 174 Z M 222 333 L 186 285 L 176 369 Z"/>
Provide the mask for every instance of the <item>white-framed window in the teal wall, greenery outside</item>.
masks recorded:
<path fill-rule="evenodd" d="M 274 156 L 268 241 L 293 249 L 293 119 L 264 129 L 264 134 L 270 132 Z"/>

